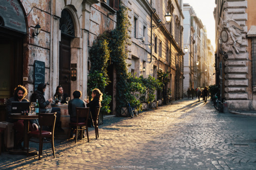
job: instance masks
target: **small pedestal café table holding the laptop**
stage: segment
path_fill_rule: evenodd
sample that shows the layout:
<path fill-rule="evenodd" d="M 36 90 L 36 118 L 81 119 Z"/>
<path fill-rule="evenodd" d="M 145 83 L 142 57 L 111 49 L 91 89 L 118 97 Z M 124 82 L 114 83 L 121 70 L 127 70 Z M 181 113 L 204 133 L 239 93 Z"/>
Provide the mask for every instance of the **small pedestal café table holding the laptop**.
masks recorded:
<path fill-rule="evenodd" d="M 23 150 L 10 150 L 10 154 L 27 154 L 28 144 L 28 133 L 29 133 L 29 120 L 38 119 L 38 115 L 9 115 L 9 118 L 24 120 L 24 141 L 23 141 Z M 33 152 L 34 151 L 34 152 Z M 35 149 L 29 149 L 30 155 L 37 155 L 38 152 Z"/>

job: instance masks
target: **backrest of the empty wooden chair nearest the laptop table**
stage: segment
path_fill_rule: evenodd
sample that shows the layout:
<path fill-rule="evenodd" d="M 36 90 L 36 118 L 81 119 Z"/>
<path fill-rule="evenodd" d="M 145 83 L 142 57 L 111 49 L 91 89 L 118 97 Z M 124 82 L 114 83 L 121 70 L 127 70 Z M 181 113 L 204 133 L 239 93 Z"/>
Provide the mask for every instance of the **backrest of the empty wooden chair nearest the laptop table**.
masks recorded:
<path fill-rule="evenodd" d="M 56 112 L 55 113 L 38 113 L 38 124 L 40 129 L 44 126 L 51 126 L 52 132 L 54 131 L 56 121 Z"/>

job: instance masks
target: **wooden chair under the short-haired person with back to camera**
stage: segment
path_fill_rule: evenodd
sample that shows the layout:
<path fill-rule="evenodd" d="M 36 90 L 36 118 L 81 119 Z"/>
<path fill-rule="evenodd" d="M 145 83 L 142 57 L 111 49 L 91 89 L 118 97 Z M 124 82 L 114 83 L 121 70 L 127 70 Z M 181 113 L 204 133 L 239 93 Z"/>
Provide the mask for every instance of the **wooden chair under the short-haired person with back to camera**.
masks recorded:
<path fill-rule="evenodd" d="M 73 130 L 75 130 L 75 142 L 77 142 L 77 134 L 78 131 L 80 133 L 80 140 L 82 139 L 83 131 L 86 130 L 87 139 L 89 142 L 89 134 L 88 134 L 88 118 L 89 118 L 89 107 L 77 107 L 76 108 L 76 123 L 69 123 L 70 129 L 72 127 L 75 127 Z M 79 122 L 80 118 L 84 118 L 84 122 Z"/>

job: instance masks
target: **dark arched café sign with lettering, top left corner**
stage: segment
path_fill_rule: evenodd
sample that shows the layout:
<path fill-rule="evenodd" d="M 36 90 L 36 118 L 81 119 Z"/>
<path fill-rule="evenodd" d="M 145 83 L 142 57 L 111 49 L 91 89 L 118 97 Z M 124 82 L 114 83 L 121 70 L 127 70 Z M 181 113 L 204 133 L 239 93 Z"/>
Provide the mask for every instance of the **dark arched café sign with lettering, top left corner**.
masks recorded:
<path fill-rule="evenodd" d="M 23 10 L 17 0 L 0 0 L 0 19 L 3 19 L 1 26 L 27 33 Z"/>

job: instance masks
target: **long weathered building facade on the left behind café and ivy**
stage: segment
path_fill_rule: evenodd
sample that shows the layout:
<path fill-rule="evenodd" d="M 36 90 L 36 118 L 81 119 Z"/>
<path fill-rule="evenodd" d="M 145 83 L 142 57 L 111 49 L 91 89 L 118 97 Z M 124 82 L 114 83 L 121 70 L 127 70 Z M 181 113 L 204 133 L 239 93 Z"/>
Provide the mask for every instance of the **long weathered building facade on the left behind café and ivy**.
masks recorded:
<path fill-rule="evenodd" d="M 119 3 L 118 0 L 1 1 L 0 48 L 6 53 L 1 57 L 0 98 L 9 98 L 14 87 L 23 84 L 29 91 L 29 99 L 38 82 L 37 61 L 45 69 L 46 99 L 53 96 L 59 84 L 71 97 L 76 89 L 82 92 L 82 97 L 87 95 L 90 47 L 99 34 L 116 27 Z M 129 70 L 144 77 L 157 77 L 158 70 L 168 71 L 168 88 L 175 99 L 182 98 L 182 0 L 123 0 L 122 3 L 130 9 L 132 24 L 129 30 L 132 43 L 127 47 Z M 165 25 L 167 11 L 173 17 Z M 10 15 L 15 17 L 8 18 Z M 34 36 L 37 24 L 41 31 Z M 153 25 L 157 28 L 153 29 Z M 111 74 L 111 109 L 116 114 L 114 68 Z"/>

